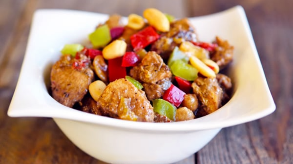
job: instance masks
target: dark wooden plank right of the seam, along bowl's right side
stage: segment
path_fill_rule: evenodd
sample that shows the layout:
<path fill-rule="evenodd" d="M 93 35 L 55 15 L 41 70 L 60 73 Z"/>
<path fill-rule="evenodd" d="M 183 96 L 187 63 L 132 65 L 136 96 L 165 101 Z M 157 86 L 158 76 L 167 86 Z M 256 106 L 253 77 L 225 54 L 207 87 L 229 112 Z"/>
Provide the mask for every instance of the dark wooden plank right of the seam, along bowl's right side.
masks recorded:
<path fill-rule="evenodd" d="M 197 153 L 199 164 L 293 163 L 292 1 L 221 1 L 208 11 L 243 5 L 277 110 L 260 120 L 222 130 Z M 205 11 L 191 12 L 204 15 Z M 291 45 L 291 46 L 290 46 Z M 235 111 L 237 112 L 237 111 Z"/>

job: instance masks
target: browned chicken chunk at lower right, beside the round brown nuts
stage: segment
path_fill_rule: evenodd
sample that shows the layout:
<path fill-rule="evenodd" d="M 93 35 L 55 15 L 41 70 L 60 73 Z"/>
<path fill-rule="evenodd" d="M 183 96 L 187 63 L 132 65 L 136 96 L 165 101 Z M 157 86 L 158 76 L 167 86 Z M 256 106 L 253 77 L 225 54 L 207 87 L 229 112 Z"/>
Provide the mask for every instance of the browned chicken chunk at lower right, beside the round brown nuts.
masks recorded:
<path fill-rule="evenodd" d="M 216 78 L 198 77 L 192 83 L 193 92 L 202 103 L 208 114 L 216 111 L 221 106 L 223 90 L 219 86 Z"/>

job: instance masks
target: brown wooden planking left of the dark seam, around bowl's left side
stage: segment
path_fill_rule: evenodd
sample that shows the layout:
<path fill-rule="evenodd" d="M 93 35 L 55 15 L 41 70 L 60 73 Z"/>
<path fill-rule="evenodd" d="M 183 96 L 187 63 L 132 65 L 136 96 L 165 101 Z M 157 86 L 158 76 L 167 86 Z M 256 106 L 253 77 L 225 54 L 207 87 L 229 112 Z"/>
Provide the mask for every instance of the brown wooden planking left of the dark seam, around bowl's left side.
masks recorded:
<path fill-rule="evenodd" d="M 9 118 L 6 115 L 13 90 L 16 86 L 25 46 L 27 44 L 31 18 L 38 8 L 67 8 L 100 13 L 130 13 L 141 14 L 144 8 L 157 6 L 163 12 L 177 17 L 184 16 L 185 10 L 181 1 L 172 0 L 172 5 L 178 10 L 171 10 L 160 1 L 130 0 L 122 1 L 1 1 L 0 23 L 4 31 L 0 32 L 1 69 L 0 69 L 0 163 L 91 163 L 106 164 L 87 155 L 77 148 L 57 127 L 50 118 Z M 13 15 L 14 13 L 14 15 Z M 13 15 L 13 19 L 4 18 Z M 8 17 L 9 18 L 9 17 Z M 2 29 L 2 26 L 1 26 Z M 2 44 L 3 43 L 3 44 Z M 3 51 L 3 53 L 2 53 Z M 176 164 L 194 163 L 194 156 L 190 156 Z"/>

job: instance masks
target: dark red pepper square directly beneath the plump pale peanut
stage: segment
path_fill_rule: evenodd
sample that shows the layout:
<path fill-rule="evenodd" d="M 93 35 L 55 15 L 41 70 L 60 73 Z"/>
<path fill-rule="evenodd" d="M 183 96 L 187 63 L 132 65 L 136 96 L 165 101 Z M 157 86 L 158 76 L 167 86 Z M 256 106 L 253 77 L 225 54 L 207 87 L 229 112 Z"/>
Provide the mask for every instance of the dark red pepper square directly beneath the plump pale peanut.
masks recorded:
<path fill-rule="evenodd" d="M 122 57 L 108 60 L 109 81 L 115 81 L 119 78 L 125 78 L 126 68 L 121 66 Z"/>

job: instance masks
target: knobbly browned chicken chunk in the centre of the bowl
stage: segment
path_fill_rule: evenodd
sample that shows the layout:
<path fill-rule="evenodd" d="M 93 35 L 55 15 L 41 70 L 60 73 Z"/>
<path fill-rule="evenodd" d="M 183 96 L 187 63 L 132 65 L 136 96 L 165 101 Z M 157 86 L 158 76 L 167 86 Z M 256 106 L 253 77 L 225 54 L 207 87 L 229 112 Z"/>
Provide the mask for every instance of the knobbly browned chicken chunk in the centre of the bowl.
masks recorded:
<path fill-rule="evenodd" d="M 143 83 L 149 100 L 162 97 L 171 86 L 172 73 L 154 51 L 147 53 L 142 62 L 130 70 L 130 76 Z"/>

